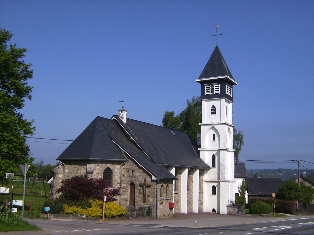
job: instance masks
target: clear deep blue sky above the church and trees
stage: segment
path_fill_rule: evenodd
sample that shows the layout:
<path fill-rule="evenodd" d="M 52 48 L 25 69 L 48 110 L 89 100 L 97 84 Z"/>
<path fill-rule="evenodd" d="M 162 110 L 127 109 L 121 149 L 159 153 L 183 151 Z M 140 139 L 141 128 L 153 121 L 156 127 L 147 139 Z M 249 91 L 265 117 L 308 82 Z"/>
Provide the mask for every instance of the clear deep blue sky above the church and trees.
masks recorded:
<path fill-rule="evenodd" d="M 73 140 L 96 116 L 117 114 L 122 97 L 128 118 L 161 125 L 167 109 L 179 114 L 200 95 L 195 79 L 220 25 L 218 46 L 239 83 L 240 159 L 314 162 L 313 12 L 314 1 L 1 0 L 0 27 L 33 64 L 22 110 L 33 137 Z M 35 162 L 55 164 L 66 143 L 29 145 Z M 280 167 L 297 165 L 246 163 Z"/>

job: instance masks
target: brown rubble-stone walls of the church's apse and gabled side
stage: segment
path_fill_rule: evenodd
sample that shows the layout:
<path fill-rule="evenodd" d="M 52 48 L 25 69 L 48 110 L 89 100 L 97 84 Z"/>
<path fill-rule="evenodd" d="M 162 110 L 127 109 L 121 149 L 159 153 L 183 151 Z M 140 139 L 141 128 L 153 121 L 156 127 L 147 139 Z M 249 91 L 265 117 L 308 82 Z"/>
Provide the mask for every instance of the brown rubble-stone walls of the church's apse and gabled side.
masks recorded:
<path fill-rule="evenodd" d="M 149 207 L 150 215 L 156 217 L 156 182 L 151 180 L 151 175 L 147 174 L 143 168 L 126 156 L 127 161 L 122 167 L 122 190 L 121 190 L 121 205 L 125 208 L 138 210 L 139 207 Z M 120 187 L 121 177 L 121 164 L 122 162 L 106 162 L 106 161 L 63 161 L 65 164 L 64 179 L 72 178 L 75 176 L 87 176 L 88 178 L 102 178 L 103 173 L 107 167 L 112 170 L 112 185 Z M 89 171 L 87 171 L 89 169 Z M 90 170 L 93 169 L 93 170 Z M 51 198 L 57 198 L 56 190 L 62 186 L 63 165 L 59 165 L 53 170 L 54 179 L 51 183 Z M 86 173 L 92 172 L 92 173 Z M 135 187 L 135 198 L 133 207 L 130 205 L 130 185 Z M 146 200 L 144 202 L 144 186 L 146 193 Z M 158 216 L 171 217 L 173 209 L 169 209 L 169 202 L 173 198 L 173 181 L 159 182 L 160 187 L 163 185 L 162 196 L 158 195 Z M 167 189 L 167 195 L 166 190 Z M 119 203 L 120 196 L 116 198 Z M 132 207 L 132 208 L 130 208 Z"/>

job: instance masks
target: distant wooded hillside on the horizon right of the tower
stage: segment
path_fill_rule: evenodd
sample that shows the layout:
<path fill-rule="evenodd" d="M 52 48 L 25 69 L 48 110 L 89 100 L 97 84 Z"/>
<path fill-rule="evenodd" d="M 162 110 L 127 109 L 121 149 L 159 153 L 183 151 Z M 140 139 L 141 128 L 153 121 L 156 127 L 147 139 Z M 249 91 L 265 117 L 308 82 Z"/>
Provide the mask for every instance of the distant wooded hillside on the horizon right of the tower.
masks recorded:
<path fill-rule="evenodd" d="M 301 170 L 300 169 L 300 175 L 303 174 L 303 172 L 306 172 L 306 175 L 313 175 L 314 169 L 311 170 Z M 297 169 L 252 169 L 252 170 L 246 170 L 246 175 L 249 178 L 254 177 L 256 175 L 257 177 L 261 178 L 282 178 L 282 180 L 291 180 L 297 177 L 298 170 Z"/>

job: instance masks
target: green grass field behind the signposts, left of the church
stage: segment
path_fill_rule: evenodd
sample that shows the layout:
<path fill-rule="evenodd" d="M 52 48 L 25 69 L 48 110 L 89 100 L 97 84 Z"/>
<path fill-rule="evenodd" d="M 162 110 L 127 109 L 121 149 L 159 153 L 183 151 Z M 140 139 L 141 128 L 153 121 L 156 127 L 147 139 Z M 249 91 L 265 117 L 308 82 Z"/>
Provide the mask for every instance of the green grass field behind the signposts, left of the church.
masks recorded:
<path fill-rule="evenodd" d="M 45 185 L 45 188 L 44 188 Z M 2 185 L 1 185 L 2 186 Z M 8 185 L 3 184 L 3 187 L 10 188 L 9 194 L 2 194 L 3 197 L 8 200 L 11 197 L 11 182 Z M 50 185 L 47 183 L 41 183 L 41 181 L 26 181 L 25 185 L 25 201 L 24 201 L 24 217 L 36 217 L 39 218 L 41 214 L 41 208 L 46 200 L 45 189 L 47 199 L 50 197 Z M 37 196 L 36 196 L 37 192 Z M 41 196 L 40 196 L 40 192 Z M 14 200 L 23 200 L 23 181 L 14 180 L 13 183 L 13 199 Z M 30 211 L 30 201 L 32 204 L 32 215 L 29 215 Z M 18 208 L 16 215 L 22 215 L 22 206 L 13 206 Z"/>

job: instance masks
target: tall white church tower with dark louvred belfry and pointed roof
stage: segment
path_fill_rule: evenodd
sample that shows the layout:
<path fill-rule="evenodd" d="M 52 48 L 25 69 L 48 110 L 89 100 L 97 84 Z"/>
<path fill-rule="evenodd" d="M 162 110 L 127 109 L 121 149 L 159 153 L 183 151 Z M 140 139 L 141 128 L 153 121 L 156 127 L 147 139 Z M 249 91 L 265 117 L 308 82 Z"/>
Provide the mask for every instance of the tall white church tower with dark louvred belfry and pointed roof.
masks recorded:
<path fill-rule="evenodd" d="M 235 200 L 232 102 L 238 83 L 218 45 L 195 81 L 201 84 L 200 157 L 211 167 L 204 175 L 203 211 L 227 214 L 228 201 Z"/>

